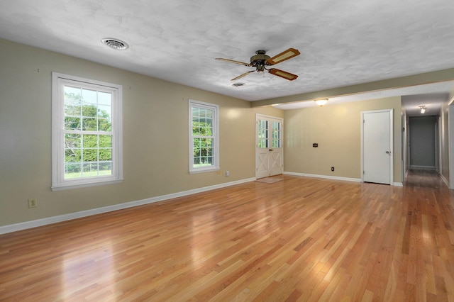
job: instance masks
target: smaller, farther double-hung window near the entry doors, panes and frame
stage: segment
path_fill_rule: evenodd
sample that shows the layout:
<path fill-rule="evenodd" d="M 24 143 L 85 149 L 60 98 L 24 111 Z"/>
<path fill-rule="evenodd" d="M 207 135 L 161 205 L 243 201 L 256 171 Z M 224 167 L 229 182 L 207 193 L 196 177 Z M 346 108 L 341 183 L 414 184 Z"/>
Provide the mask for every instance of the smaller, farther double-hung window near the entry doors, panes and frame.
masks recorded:
<path fill-rule="evenodd" d="M 189 100 L 189 173 L 219 169 L 219 107 Z"/>

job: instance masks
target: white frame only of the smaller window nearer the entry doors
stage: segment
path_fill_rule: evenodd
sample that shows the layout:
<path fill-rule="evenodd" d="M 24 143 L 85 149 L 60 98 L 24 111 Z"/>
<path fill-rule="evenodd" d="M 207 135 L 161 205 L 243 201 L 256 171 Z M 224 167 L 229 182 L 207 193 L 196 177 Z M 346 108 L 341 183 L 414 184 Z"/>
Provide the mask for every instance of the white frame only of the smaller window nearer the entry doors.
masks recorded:
<path fill-rule="evenodd" d="M 192 135 L 192 108 L 213 111 L 214 163 L 209 167 L 194 167 L 194 136 Z M 219 106 L 189 99 L 189 174 L 218 171 L 219 165 Z"/>

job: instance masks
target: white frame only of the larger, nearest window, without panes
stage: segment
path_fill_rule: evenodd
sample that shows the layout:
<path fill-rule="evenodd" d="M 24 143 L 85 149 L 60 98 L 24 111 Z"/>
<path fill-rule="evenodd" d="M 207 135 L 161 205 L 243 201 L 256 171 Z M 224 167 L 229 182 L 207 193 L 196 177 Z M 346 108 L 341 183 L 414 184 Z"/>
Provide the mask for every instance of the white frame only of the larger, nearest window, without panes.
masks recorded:
<path fill-rule="evenodd" d="M 65 106 L 64 86 L 109 91 L 112 94 L 112 174 L 99 177 L 65 179 Z M 115 184 L 123 181 L 123 88 L 68 74 L 52 72 L 52 191 L 86 186 Z M 99 132 L 102 133 L 102 132 Z"/>

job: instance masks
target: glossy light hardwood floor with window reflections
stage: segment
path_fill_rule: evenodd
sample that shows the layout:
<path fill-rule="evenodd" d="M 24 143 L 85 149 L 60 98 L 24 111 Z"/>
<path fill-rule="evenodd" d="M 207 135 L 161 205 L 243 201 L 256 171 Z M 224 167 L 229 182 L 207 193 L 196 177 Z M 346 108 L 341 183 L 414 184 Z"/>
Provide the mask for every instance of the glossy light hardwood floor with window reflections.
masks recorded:
<path fill-rule="evenodd" d="M 0 235 L 1 301 L 454 301 L 454 195 L 284 176 Z"/>

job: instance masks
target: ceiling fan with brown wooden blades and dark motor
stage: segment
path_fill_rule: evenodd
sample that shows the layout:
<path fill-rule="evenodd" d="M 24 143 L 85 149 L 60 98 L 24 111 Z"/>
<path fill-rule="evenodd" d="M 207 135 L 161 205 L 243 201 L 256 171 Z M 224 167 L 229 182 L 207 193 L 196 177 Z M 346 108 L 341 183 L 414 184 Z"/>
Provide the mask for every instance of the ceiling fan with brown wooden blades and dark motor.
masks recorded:
<path fill-rule="evenodd" d="M 255 67 L 255 70 L 250 70 L 249 72 L 240 74 L 238 77 L 234 77 L 233 79 L 231 79 L 231 81 L 235 81 L 236 79 L 245 77 L 248 74 L 250 74 L 251 72 L 265 72 L 265 70 L 270 72 L 270 74 L 276 75 L 277 77 L 282 77 L 284 79 L 288 79 L 289 81 L 293 81 L 294 79 L 297 79 L 297 77 L 298 77 L 296 74 L 291 74 L 290 72 L 284 72 L 284 70 L 280 70 L 280 69 L 276 69 L 276 68 L 267 69 L 266 66 L 276 65 L 277 63 L 280 63 L 282 61 L 292 59 L 292 57 L 296 57 L 297 55 L 299 55 L 299 53 L 300 52 L 298 50 L 296 50 L 294 48 L 289 48 L 288 50 L 285 50 L 285 51 L 279 53 L 279 55 L 270 57 L 269 55 L 266 55 L 266 50 L 257 50 L 255 52 L 255 55 L 250 57 L 250 63 L 223 59 L 221 57 L 216 57 L 216 60 L 244 65 L 244 66 L 248 66 L 248 67 Z"/>

